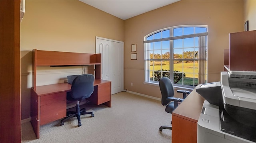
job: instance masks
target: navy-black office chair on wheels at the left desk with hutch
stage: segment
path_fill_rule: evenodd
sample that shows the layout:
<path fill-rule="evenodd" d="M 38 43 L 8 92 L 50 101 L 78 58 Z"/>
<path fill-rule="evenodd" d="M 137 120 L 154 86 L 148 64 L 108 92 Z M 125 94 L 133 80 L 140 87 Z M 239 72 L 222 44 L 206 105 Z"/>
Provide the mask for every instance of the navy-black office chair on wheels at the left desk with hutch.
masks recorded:
<path fill-rule="evenodd" d="M 78 127 L 80 127 L 82 125 L 80 120 L 80 115 L 91 114 L 91 116 L 94 117 L 94 114 L 92 112 L 86 112 L 85 108 L 80 110 L 80 107 L 79 107 L 79 103 L 82 100 L 89 98 L 92 92 L 94 91 L 93 83 L 94 83 L 94 76 L 92 74 L 82 74 L 77 76 L 73 80 L 71 85 L 71 91 L 67 92 L 67 100 L 77 101 L 76 112 L 74 111 L 67 112 L 67 117 L 65 117 L 60 121 L 60 125 L 64 125 L 64 121 L 76 116 L 78 120 Z"/>

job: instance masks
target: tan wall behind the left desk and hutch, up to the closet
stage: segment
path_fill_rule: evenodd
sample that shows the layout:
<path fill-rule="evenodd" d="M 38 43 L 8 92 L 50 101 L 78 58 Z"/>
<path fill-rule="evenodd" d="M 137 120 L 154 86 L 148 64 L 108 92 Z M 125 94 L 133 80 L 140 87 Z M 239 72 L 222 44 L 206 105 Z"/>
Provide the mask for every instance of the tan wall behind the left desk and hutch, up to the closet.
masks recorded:
<path fill-rule="evenodd" d="M 124 41 L 124 20 L 78 0 L 26 0 L 20 24 L 22 119 L 30 118 L 32 49 L 95 53 L 96 36 Z M 63 82 L 67 74 L 84 70 L 38 69 L 38 85 Z"/>

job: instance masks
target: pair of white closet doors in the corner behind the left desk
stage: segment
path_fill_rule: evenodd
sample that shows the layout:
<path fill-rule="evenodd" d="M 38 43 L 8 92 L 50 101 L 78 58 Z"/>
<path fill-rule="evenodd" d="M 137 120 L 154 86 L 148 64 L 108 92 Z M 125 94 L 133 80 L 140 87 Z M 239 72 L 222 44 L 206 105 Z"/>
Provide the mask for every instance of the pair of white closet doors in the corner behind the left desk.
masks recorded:
<path fill-rule="evenodd" d="M 111 94 L 124 90 L 124 42 L 96 37 L 96 52 L 101 53 L 102 79 L 111 81 Z"/>

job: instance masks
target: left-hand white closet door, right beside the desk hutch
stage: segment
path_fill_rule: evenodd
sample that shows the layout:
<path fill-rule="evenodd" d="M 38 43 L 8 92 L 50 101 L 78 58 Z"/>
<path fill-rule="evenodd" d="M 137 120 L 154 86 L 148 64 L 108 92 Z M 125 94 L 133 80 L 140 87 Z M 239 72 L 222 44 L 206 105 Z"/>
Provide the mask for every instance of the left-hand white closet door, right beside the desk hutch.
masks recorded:
<path fill-rule="evenodd" d="M 101 53 L 101 79 L 111 81 L 111 41 L 98 39 L 96 53 Z"/>

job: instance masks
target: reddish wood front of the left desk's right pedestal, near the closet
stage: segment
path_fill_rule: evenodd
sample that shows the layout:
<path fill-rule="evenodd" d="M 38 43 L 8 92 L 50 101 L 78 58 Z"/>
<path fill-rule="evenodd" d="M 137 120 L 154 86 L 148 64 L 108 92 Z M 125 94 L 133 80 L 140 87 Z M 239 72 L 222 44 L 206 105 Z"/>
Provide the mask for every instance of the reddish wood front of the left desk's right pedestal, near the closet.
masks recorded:
<path fill-rule="evenodd" d="M 108 82 L 105 84 L 98 85 L 98 103 L 97 103 L 97 105 L 110 101 L 110 98 L 111 98 L 111 91 L 110 91 L 111 85 L 110 84 L 111 83 Z"/>

